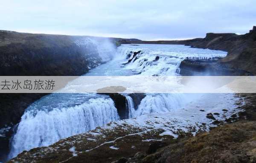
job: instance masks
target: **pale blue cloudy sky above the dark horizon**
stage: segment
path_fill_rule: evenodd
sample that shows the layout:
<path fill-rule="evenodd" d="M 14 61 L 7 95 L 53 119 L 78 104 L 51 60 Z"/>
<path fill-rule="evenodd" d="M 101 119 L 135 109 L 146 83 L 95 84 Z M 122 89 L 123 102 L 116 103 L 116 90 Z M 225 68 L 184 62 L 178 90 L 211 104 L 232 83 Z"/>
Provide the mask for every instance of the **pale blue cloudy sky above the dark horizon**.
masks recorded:
<path fill-rule="evenodd" d="M 172 40 L 247 33 L 256 0 L 0 0 L 0 30 Z"/>

